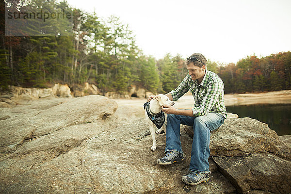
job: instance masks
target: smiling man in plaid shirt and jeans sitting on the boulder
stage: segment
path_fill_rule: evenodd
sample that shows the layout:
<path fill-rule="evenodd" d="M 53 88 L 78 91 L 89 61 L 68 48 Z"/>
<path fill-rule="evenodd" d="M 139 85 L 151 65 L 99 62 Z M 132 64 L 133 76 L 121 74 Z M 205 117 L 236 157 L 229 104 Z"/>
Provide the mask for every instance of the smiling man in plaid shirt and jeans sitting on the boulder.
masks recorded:
<path fill-rule="evenodd" d="M 227 114 L 223 81 L 207 70 L 206 58 L 200 53 L 194 53 L 187 58 L 186 65 L 189 74 L 166 96 L 171 100 L 178 100 L 190 91 L 195 101 L 194 108 L 176 109 L 168 105 L 162 107 L 162 111 L 167 113 L 166 147 L 165 156 L 158 159 L 157 163 L 166 165 L 183 160 L 180 124 L 193 126 L 190 173 L 182 176 L 182 181 L 189 185 L 197 185 L 210 178 L 210 131 L 219 128 Z M 153 96 L 149 97 L 148 101 L 151 98 Z"/>

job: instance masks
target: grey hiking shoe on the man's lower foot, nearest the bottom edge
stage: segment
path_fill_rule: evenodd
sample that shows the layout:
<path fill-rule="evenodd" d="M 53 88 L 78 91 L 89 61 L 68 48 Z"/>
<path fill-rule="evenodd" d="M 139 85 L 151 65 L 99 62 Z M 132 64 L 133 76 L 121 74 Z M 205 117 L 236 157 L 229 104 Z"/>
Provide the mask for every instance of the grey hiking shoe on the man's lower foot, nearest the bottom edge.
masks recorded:
<path fill-rule="evenodd" d="M 210 173 L 196 173 L 192 171 L 182 177 L 182 181 L 188 185 L 197 185 L 201 182 L 207 182 L 210 179 Z"/>

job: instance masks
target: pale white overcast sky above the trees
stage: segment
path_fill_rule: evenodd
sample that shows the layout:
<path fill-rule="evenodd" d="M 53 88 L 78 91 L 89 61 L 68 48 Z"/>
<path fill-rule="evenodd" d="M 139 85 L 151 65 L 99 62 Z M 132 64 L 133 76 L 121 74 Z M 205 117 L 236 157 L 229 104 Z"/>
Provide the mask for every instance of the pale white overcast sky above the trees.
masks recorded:
<path fill-rule="evenodd" d="M 236 63 L 291 50 L 291 0 L 67 0 L 97 16 L 119 16 L 146 55 L 199 52 Z"/>

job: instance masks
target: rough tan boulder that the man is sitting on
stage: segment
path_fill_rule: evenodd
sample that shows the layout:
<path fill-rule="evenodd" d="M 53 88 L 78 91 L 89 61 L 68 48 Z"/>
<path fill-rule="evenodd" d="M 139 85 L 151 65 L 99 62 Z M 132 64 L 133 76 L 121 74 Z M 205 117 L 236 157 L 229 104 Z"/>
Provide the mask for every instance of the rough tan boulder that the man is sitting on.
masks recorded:
<path fill-rule="evenodd" d="M 230 114 L 231 115 L 231 114 Z M 184 126 L 193 137 L 193 127 Z M 267 124 L 252 118 L 228 117 L 224 124 L 211 131 L 211 156 L 249 156 L 256 152 L 270 152 L 282 158 L 291 159 L 291 149 L 280 141 L 276 132 Z"/>

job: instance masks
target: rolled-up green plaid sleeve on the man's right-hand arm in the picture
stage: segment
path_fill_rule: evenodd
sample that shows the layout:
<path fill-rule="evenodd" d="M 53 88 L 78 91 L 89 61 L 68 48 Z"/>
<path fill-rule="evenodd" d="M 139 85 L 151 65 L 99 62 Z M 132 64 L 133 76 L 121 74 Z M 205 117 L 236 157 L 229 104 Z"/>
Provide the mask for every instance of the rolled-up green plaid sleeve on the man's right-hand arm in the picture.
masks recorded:
<path fill-rule="evenodd" d="M 210 85 L 208 85 L 206 88 L 206 95 L 203 97 L 200 105 L 192 109 L 193 115 L 204 116 L 210 113 L 223 88 L 224 86 L 219 82 L 210 83 Z"/>

